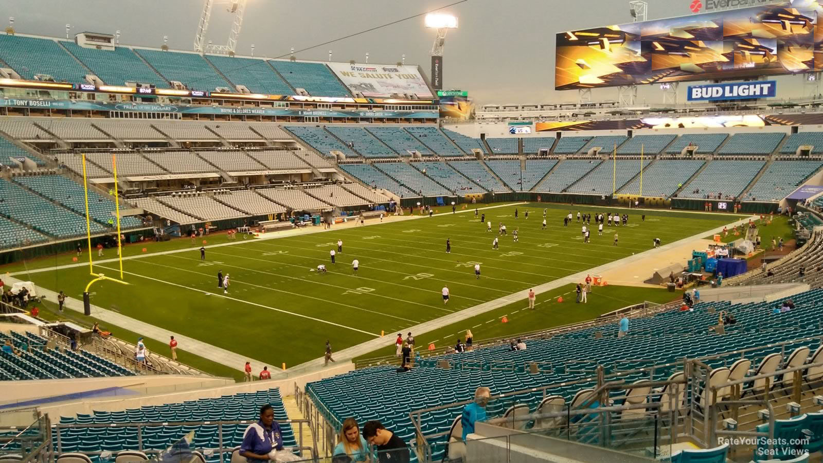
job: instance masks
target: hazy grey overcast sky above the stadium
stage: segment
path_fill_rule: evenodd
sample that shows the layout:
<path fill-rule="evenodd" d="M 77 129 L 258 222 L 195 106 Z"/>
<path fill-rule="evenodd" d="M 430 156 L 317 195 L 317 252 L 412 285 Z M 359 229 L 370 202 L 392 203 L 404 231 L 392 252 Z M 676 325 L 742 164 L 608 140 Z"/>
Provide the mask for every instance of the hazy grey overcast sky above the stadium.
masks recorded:
<path fill-rule="evenodd" d="M 343 35 L 398 21 L 458 0 L 249 0 L 238 54 L 275 57 Z M 691 14 L 691 0 L 649 0 L 649 19 Z M 208 37 L 228 37 L 228 0 L 212 12 Z M 202 0 L 0 0 L 0 26 L 14 16 L 21 34 L 71 37 L 84 30 L 114 34 L 121 44 L 193 49 Z M 630 22 L 622 0 L 467 0 L 444 12 L 459 18 L 449 31 L 444 54 L 444 88 L 469 91 L 477 104 L 577 101 L 577 91 L 554 91 L 555 35 L 565 30 Z M 434 31 L 418 17 L 298 54 L 298 58 L 362 63 L 420 64 L 429 73 Z M 800 92 L 801 77 L 785 77 L 779 95 Z M 681 86 L 681 91 L 685 91 Z M 792 87 L 791 89 L 789 87 Z M 593 91 L 593 99 L 617 100 L 616 89 Z M 683 98 L 681 97 L 681 100 Z M 657 87 L 645 86 L 639 102 L 662 101 Z"/>

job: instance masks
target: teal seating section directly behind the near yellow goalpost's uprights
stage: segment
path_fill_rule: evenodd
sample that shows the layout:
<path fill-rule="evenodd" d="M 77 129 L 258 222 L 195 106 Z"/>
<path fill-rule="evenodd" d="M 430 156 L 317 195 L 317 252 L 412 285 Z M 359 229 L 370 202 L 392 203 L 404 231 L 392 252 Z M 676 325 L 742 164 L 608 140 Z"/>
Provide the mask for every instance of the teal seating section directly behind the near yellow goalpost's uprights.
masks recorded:
<path fill-rule="evenodd" d="M 81 185 L 78 185 L 72 180 L 60 175 L 14 177 L 13 180 L 86 217 L 85 191 Z M 120 207 L 128 208 L 129 206 L 122 201 L 121 199 Z M 94 189 L 89 189 L 89 212 L 93 220 L 102 225 L 106 225 L 109 223 L 109 220 L 114 221 L 112 213 L 114 213 L 115 210 L 114 200 L 97 193 Z M 136 228 L 141 226 L 142 221 L 136 217 L 122 217 L 120 220 L 120 227 L 123 228 Z"/>

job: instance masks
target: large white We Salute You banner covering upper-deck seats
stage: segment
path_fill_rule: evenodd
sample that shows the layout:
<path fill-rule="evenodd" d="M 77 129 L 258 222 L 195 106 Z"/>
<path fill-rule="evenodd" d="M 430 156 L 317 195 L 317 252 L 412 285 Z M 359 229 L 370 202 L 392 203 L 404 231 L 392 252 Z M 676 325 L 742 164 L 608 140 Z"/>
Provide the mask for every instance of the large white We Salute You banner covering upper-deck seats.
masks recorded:
<path fill-rule="evenodd" d="M 354 94 L 359 92 L 365 97 L 383 98 L 406 94 L 433 98 L 416 66 L 328 63 L 328 67 Z"/>

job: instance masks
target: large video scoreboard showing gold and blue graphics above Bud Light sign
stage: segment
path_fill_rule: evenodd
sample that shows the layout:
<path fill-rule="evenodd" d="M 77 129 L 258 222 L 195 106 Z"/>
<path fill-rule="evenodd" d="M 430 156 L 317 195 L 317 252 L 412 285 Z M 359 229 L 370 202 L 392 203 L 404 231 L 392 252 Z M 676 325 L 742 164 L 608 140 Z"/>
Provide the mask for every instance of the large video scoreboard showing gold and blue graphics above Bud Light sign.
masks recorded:
<path fill-rule="evenodd" d="M 823 70 L 816 1 L 710 12 L 557 35 L 556 90 Z"/>

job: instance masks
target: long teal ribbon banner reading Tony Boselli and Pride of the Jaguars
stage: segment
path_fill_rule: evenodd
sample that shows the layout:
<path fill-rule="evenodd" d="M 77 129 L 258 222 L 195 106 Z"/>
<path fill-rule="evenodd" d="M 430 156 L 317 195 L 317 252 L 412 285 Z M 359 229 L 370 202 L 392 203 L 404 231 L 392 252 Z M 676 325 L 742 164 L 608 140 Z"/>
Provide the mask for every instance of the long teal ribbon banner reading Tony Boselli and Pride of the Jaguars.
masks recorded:
<path fill-rule="evenodd" d="M 146 113 L 179 113 L 203 115 L 267 115 L 267 116 L 319 116 L 339 118 L 404 118 L 437 119 L 437 110 L 416 111 L 368 111 L 368 110 L 292 110 L 288 108 L 235 108 L 230 106 L 181 106 L 155 103 L 109 103 L 91 100 L 30 100 L 26 98 L 0 99 L 0 106 L 40 108 L 52 110 L 129 111 Z"/>

